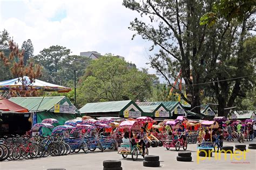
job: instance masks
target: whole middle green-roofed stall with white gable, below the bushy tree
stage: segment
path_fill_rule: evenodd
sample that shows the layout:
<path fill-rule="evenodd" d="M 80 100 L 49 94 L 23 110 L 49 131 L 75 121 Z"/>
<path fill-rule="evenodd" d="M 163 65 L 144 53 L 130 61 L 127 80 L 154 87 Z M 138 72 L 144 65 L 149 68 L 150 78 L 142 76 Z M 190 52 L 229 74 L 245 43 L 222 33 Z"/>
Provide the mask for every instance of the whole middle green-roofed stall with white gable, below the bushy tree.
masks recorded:
<path fill-rule="evenodd" d="M 138 118 L 142 115 L 142 110 L 132 100 L 87 103 L 79 111 L 91 117 Z"/>

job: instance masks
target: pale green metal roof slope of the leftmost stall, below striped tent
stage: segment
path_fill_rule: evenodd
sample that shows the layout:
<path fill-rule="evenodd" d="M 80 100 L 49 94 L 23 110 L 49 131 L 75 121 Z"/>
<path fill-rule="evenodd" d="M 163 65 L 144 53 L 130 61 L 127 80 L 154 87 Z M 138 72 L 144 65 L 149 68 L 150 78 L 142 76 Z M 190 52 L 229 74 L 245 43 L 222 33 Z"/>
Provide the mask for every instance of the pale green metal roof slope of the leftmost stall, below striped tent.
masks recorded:
<path fill-rule="evenodd" d="M 65 96 L 55 97 L 12 97 L 9 100 L 29 111 L 48 111 L 58 104 Z M 40 104 L 41 103 L 41 104 Z M 39 107 L 38 107 L 39 106 Z"/>

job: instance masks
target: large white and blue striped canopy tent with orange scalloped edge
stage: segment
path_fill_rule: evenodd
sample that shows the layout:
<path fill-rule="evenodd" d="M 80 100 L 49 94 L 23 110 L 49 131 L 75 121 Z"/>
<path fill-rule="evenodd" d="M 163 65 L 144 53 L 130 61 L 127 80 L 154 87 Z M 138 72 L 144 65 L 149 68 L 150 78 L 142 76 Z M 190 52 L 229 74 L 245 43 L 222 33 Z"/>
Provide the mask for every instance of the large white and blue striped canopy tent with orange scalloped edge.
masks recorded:
<path fill-rule="evenodd" d="M 23 82 L 23 83 L 22 83 Z M 18 77 L 10 80 L 0 81 L 0 91 L 8 91 L 9 89 L 23 89 L 23 86 L 26 86 L 26 89 L 43 89 L 44 91 L 49 92 L 59 92 L 66 93 L 71 91 L 69 87 L 59 86 L 56 84 L 47 83 L 42 80 L 35 79 L 31 82 L 28 76 Z"/>

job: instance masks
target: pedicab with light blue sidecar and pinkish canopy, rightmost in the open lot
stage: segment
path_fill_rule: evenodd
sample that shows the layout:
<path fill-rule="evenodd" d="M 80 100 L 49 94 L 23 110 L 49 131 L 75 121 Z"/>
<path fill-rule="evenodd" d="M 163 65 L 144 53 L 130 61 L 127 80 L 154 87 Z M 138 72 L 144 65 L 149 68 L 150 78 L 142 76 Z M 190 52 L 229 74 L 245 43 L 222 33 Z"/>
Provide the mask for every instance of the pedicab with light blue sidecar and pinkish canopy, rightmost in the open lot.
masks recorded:
<path fill-rule="evenodd" d="M 220 146 L 220 139 L 219 139 L 219 135 L 217 135 L 217 137 L 213 140 L 213 136 L 212 136 L 212 132 L 213 129 L 217 129 L 219 127 L 219 124 L 217 121 L 202 121 L 200 128 L 203 128 L 203 130 L 208 130 L 211 131 L 210 135 L 210 140 L 208 141 L 204 141 L 204 137 L 203 138 L 199 138 L 199 141 L 197 143 L 198 149 L 215 149 L 217 148 L 217 152 L 221 150 L 221 146 Z"/>

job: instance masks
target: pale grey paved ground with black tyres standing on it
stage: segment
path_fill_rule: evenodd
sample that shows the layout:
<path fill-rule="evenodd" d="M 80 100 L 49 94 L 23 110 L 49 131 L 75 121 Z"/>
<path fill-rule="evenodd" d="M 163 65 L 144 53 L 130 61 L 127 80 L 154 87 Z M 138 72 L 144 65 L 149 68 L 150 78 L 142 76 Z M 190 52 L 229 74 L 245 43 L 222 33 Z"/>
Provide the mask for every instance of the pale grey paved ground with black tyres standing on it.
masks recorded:
<path fill-rule="evenodd" d="M 253 141 L 255 143 L 255 141 Z M 226 142 L 224 146 L 234 146 L 238 142 Z M 247 145 L 249 142 L 245 142 Z M 248 150 L 248 149 L 247 149 Z M 183 151 L 181 148 L 180 151 Z M 132 161 L 131 155 L 126 159 L 123 159 L 122 155 L 117 152 L 107 151 L 104 152 L 90 152 L 85 153 L 71 153 L 65 156 L 59 157 L 47 157 L 39 159 L 18 160 L 18 161 L 3 161 L 0 162 L 0 169 L 48 169 L 48 168 L 65 168 L 69 169 L 103 169 L 103 160 L 116 159 L 122 161 L 123 169 L 256 169 L 256 149 L 250 150 L 242 156 L 234 154 L 227 154 L 225 160 L 225 154 L 221 153 L 220 158 L 216 157 L 213 153 L 213 157 L 209 160 L 198 160 L 197 146 L 196 144 L 188 145 L 187 151 L 192 152 L 192 162 L 179 162 L 176 160 L 178 152 L 171 148 L 169 151 L 164 147 L 149 148 L 149 153 L 152 155 L 159 155 L 160 167 L 150 168 L 143 167 L 143 158 L 139 156 L 137 161 Z M 233 159 L 231 159 L 231 155 Z M 241 160 L 238 160 L 242 158 Z M 204 159 L 204 157 L 200 157 Z"/>

